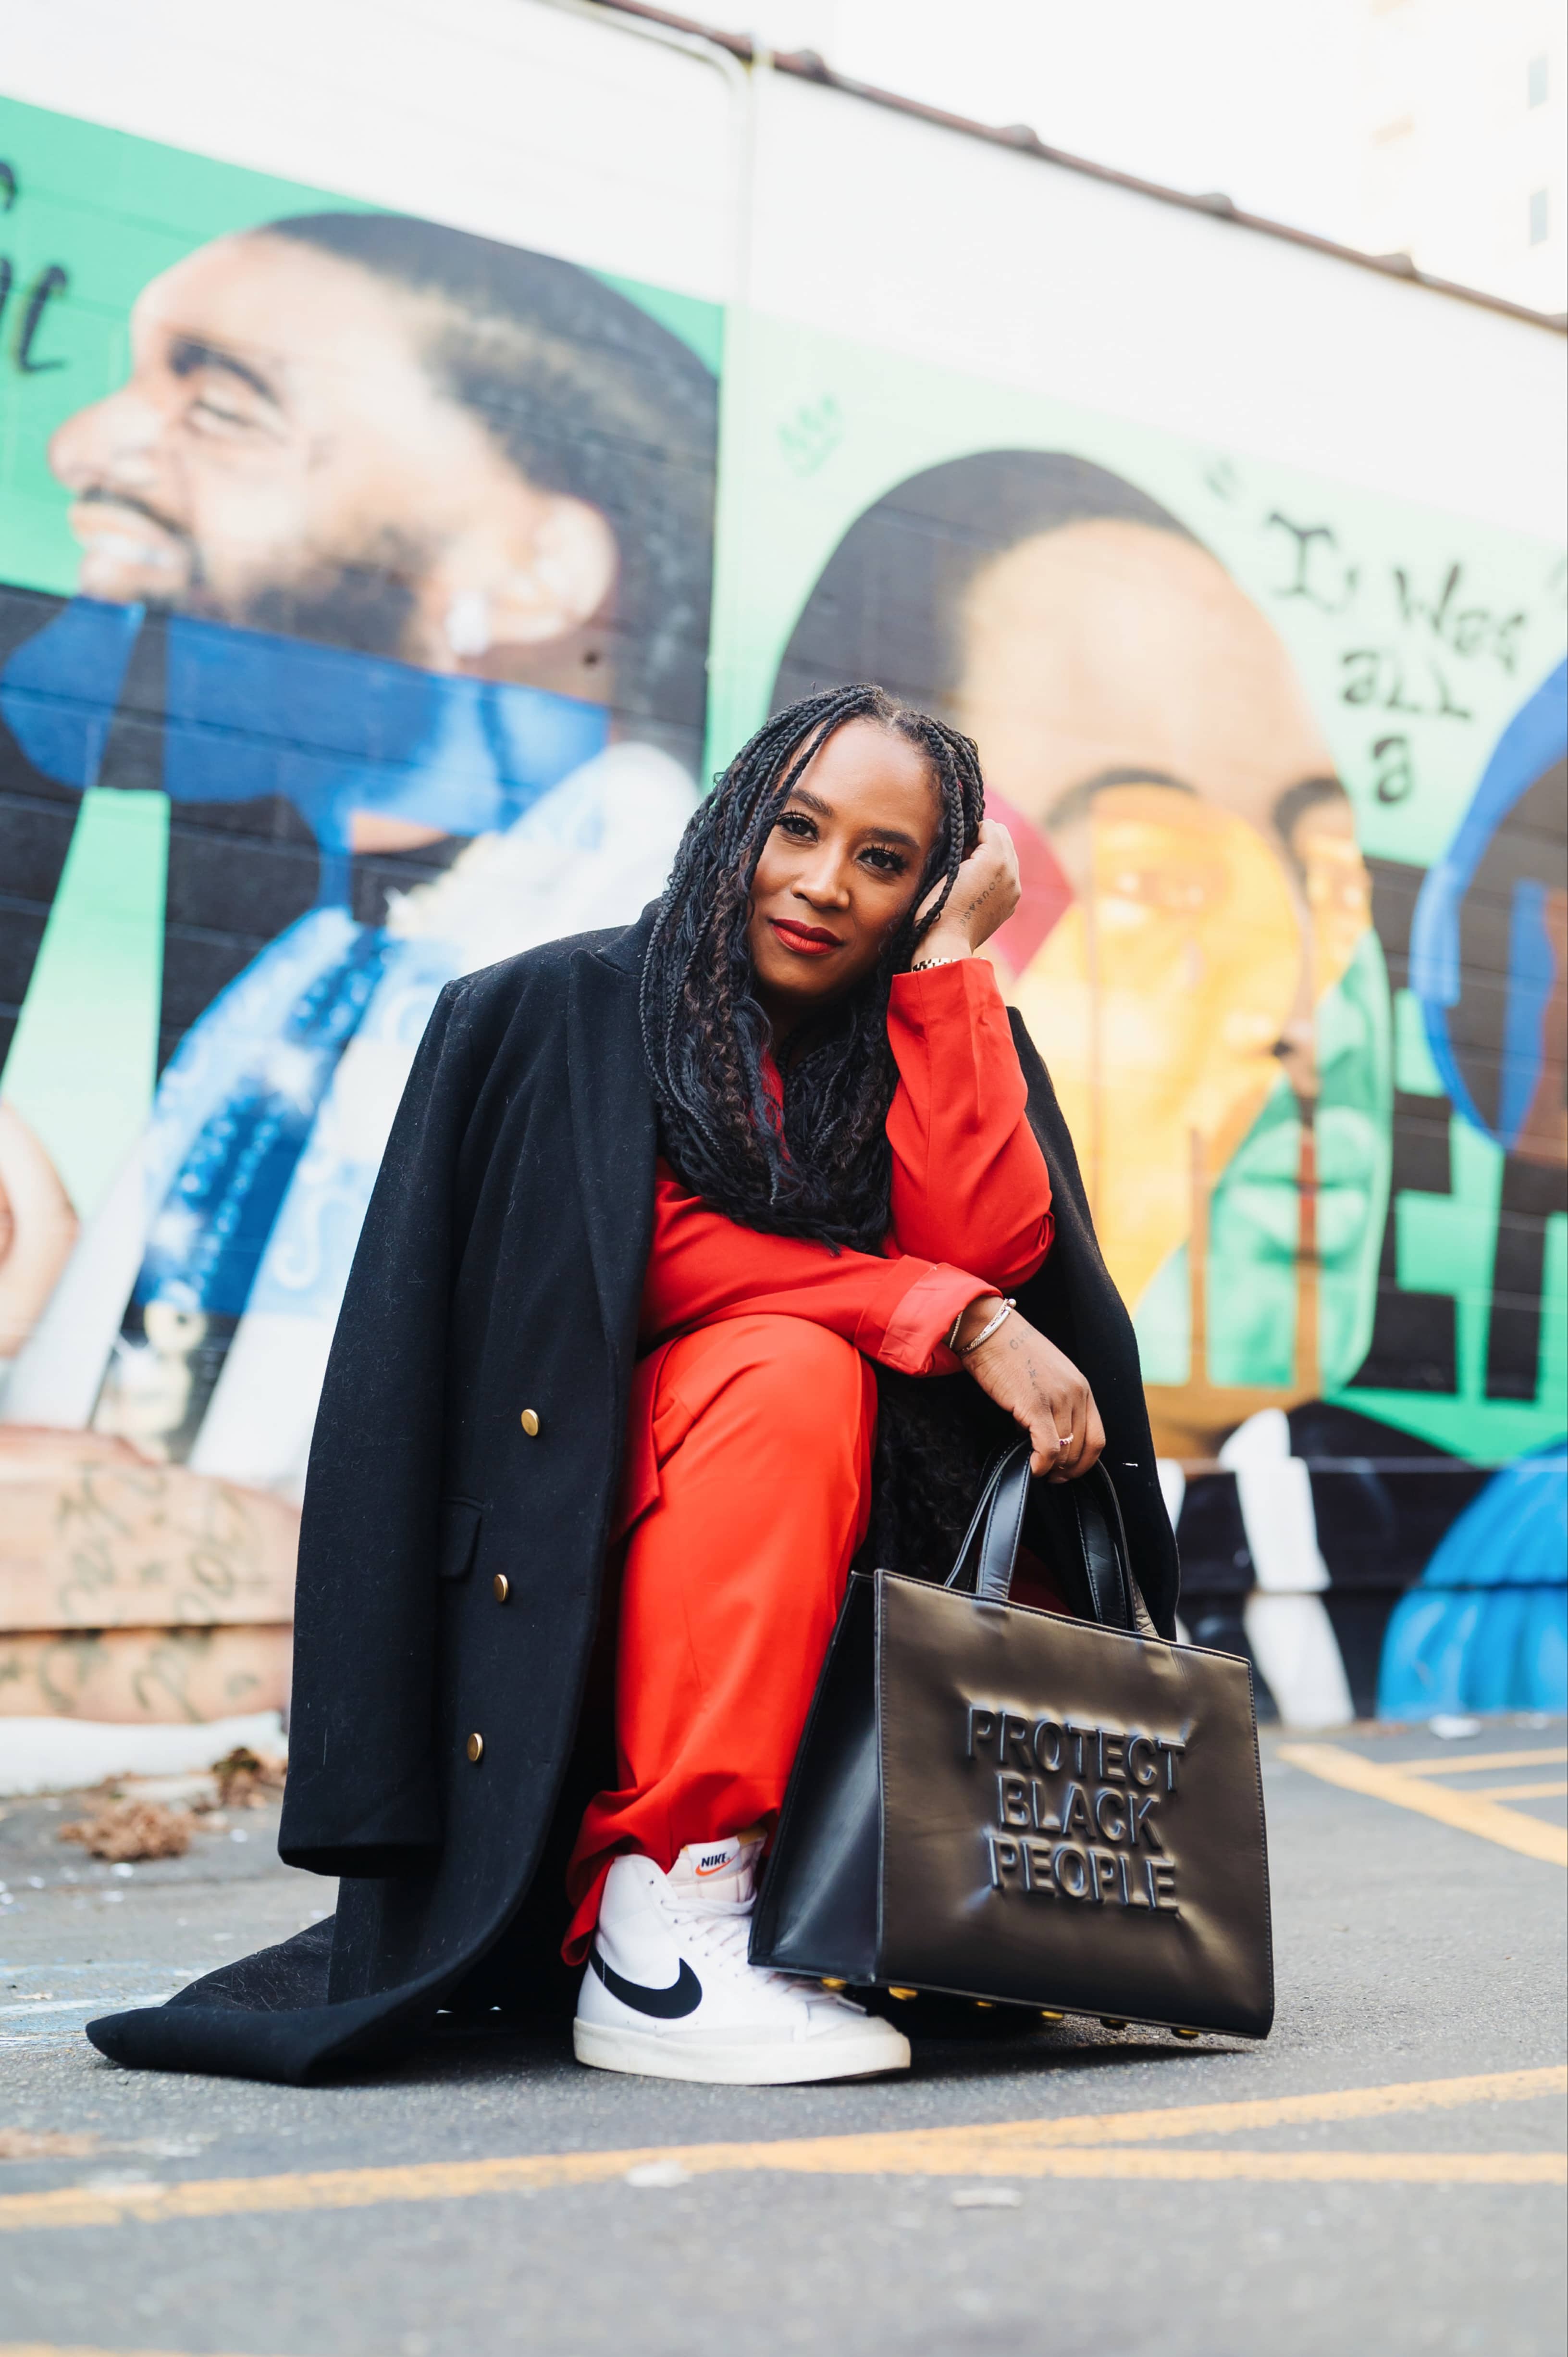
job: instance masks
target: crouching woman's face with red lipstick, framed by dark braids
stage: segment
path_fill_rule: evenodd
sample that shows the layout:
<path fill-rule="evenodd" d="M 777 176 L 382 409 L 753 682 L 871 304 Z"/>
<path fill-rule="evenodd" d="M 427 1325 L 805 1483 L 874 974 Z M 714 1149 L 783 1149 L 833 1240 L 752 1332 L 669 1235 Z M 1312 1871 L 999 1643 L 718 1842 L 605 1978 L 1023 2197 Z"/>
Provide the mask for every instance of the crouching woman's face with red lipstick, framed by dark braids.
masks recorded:
<path fill-rule="evenodd" d="M 751 884 L 746 943 L 775 1039 L 873 971 L 939 820 L 930 761 L 878 721 L 845 721 L 812 754 Z"/>

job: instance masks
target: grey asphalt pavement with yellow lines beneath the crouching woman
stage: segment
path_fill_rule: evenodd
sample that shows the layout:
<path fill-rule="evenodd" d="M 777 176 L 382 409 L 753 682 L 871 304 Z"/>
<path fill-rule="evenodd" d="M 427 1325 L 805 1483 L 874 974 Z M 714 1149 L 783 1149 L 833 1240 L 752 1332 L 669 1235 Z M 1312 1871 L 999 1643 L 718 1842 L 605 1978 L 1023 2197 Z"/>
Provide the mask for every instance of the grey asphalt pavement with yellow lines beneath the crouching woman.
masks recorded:
<path fill-rule="evenodd" d="M 1563 1732 L 1264 1737 L 1264 2046 L 977 2013 L 824 2088 L 563 2036 L 308 2091 L 115 2069 L 92 2013 L 332 1888 L 273 1808 L 127 1871 L 59 1843 L 73 1798 L 0 1803 L 0 2357 L 1559 2357 Z"/>

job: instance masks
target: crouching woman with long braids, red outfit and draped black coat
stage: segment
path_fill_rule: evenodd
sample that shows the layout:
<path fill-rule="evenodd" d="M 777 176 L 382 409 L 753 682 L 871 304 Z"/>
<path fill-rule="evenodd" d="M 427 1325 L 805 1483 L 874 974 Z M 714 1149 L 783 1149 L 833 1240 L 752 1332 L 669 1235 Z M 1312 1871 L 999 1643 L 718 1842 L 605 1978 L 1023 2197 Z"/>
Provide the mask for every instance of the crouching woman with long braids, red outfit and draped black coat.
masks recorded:
<path fill-rule="evenodd" d="M 280 1850 L 337 1921 L 104 2053 L 304 2079 L 537 2006 L 565 1933 L 584 2060 L 909 2060 L 744 1959 L 850 1560 L 946 1570 L 998 1435 L 1052 1478 L 1109 1435 L 1175 1610 L 1125 1310 L 972 955 L 1015 896 L 972 745 L 857 686 L 737 754 L 636 926 L 443 992 L 304 1508 Z"/>

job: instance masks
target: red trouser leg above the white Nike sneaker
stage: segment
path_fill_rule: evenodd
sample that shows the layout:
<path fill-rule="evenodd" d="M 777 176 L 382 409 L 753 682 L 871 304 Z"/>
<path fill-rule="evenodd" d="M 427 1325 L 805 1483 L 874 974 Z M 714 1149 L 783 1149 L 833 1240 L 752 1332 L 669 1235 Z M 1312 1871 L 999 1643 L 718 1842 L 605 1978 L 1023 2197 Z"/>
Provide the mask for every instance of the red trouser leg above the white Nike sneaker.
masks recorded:
<path fill-rule="evenodd" d="M 876 1376 L 803 1318 L 673 1343 L 655 1395 L 659 1501 L 626 1541 L 617 1791 L 589 1805 L 563 1954 L 586 1954 L 610 1860 L 772 1827 L 871 1508 Z"/>

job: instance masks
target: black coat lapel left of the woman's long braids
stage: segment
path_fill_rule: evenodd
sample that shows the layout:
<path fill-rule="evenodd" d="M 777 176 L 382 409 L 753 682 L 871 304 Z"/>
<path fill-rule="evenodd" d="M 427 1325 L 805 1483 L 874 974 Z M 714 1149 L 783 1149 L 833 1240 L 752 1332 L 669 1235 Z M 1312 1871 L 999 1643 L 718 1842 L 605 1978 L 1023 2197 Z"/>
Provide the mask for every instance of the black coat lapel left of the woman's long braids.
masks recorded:
<path fill-rule="evenodd" d="M 638 976 L 647 917 L 607 950 L 579 950 L 567 973 L 572 1150 L 593 1287 L 612 1358 L 629 1353 L 652 1235 L 657 1120 Z"/>

